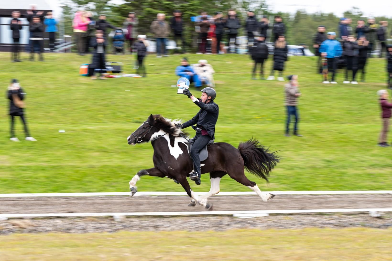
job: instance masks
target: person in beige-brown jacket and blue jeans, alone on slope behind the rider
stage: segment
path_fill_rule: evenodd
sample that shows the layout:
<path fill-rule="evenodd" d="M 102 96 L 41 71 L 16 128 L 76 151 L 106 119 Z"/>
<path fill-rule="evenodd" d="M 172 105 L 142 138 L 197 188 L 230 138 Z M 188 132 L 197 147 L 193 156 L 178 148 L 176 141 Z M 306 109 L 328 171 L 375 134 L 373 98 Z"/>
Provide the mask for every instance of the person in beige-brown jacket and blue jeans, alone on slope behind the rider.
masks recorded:
<path fill-rule="evenodd" d="M 298 133 L 298 98 L 301 96 L 301 92 L 299 92 L 298 88 L 298 76 L 290 75 L 287 77 L 287 79 L 289 80 L 289 83 L 285 85 L 285 106 L 287 112 L 285 136 L 290 137 L 290 118 L 291 115 L 293 115 L 295 119 L 293 134 L 295 136 L 302 137 L 302 135 Z"/>

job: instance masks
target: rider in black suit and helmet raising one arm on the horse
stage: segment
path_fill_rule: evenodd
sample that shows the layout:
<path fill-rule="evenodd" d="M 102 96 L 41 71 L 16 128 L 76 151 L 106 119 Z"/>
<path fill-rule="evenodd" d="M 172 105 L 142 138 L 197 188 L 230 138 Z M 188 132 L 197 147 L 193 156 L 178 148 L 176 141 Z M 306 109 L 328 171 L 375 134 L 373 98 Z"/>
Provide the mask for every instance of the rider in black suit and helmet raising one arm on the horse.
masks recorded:
<path fill-rule="evenodd" d="M 199 152 L 202 150 L 209 141 L 215 139 L 215 124 L 218 120 L 219 107 L 214 102 L 216 91 L 211 87 L 206 87 L 202 90 L 201 99 L 196 98 L 191 94 L 189 89 L 185 89 L 183 93 L 187 95 L 193 103 L 200 107 L 200 111 L 191 120 L 180 124 L 181 129 L 192 126 L 196 130 L 196 136 L 193 137 L 194 143 L 191 149 L 191 158 L 193 159 L 193 171 L 189 173 L 189 178 L 195 181 L 196 185 L 200 185 L 200 158 Z"/>

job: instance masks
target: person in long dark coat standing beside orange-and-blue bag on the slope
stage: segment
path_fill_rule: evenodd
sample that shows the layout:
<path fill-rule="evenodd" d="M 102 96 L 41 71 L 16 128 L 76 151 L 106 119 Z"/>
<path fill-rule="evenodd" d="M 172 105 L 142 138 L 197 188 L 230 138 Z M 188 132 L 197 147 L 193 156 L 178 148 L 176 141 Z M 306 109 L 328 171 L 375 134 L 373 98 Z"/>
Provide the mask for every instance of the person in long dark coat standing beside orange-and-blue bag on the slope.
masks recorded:
<path fill-rule="evenodd" d="M 106 41 L 107 38 L 103 36 L 103 32 L 97 30 L 95 32 L 95 37 L 91 38 L 90 46 L 93 47 L 93 60 L 89 65 L 89 76 L 91 79 L 95 80 L 97 77 L 95 75 L 95 71 L 99 71 L 101 74 L 101 79 L 105 80 L 103 77 L 103 71 L 106 71 L 106 60 L 105 60 L 105 51 L 106 51 Z"/>

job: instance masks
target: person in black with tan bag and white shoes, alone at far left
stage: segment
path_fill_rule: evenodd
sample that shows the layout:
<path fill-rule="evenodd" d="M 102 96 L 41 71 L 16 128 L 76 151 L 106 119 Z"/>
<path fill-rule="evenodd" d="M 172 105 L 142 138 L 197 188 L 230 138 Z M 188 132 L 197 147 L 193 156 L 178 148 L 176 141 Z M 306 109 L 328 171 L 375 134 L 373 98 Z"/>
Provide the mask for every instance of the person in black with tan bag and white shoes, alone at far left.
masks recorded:
<path fill-rule="evenodd" d="M 19 141 L 18 138 L 15 136 L 15 117 L 19 116 L 22 120 L 24 131 L 27 141 L 36 141 L 33 137 L 29 134 L 29 129 L 27 128 L 26 119 L 24 116 L 24 99 L 25 99 L 25 92 L 23 91 L 22 87 L 20 87 L 18 80 L 13 79 L 11 84 L 8 86 L 7 89 L 7 98 L 9 100 L 9 116 L 11 116 L 11 141 Z"/>

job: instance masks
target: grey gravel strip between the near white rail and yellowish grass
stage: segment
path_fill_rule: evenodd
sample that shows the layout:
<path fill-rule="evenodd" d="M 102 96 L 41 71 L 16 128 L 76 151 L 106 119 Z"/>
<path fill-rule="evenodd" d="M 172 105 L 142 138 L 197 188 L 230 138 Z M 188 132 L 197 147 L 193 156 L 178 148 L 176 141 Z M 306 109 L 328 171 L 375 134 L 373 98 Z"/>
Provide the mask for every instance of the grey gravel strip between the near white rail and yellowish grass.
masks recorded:
<path fill-rule="evenodd" d="M 312 214 L 271 215 L 268 217 L 238 218 L 231 216 L 128 217 L 115 222 L 109 217 L 9 219 L 0 221 L 0 235 L 12 233 L 88 233 L 127 231 L 223 231 L 231 229 L 299 229 L 306 227 L 392 227 L 392 213 L 383 218 L 369 214 Z"/>

